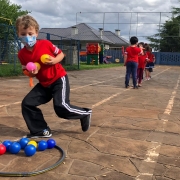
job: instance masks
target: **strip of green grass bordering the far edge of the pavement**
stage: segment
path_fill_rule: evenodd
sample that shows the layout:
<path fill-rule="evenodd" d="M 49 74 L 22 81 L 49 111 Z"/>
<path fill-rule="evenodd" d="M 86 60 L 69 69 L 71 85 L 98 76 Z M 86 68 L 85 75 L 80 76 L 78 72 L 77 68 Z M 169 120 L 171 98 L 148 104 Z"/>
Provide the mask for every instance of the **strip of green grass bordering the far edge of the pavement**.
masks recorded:
<path fill-rule="evenodd" d="M 122 63 L 111 63 L 111 64 L 99 64 L 99 65 L 87 65 L 86 63 L 80 63 L 80 69 L 78 65 L 67 66 L 63 65 L 66 71 L 72 70 L 91 70 L 91 69 L 101 69 L 101 68 L 111 68 L 111 67 L 120 67 L 123 66 Z M 13 77 L 13 76 L 22 76 L 21 64 L 0 64 L 0 77 Z"/>

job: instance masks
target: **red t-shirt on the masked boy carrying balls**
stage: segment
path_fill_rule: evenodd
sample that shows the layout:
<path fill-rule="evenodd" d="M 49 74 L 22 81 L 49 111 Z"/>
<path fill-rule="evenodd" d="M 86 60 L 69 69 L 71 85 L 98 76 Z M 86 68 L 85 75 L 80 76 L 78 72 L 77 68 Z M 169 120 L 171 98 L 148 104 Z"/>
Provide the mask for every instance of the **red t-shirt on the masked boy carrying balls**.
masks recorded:
<path fill-rule="evenodd" d="M 37 40 L 32 51 L 29 51 L 26 49 L 26 47 L 24 47 L 18 52 L 18 58 L 24 68 L 28 62 L 39 63 L 41 68 L 38 71 L 38 74 L 36 74 L 36 78 L 44 87 L 47 87 L 55 82 L 58 78 L 65 76 L 66 71 L 60 63 L 55 65 L 43 64 L 40 60 L 40 57 L 43 54 L 56 57 L 61 52 L 62 51 L 53 45 L 50 41 Z"/>

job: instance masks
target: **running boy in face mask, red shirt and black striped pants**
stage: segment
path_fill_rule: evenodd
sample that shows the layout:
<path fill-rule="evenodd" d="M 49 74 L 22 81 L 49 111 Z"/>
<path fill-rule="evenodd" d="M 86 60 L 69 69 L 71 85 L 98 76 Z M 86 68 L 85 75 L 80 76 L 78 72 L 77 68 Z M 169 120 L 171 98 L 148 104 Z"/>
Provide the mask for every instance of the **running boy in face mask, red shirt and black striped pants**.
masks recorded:
<path fill-rule="evenodd" d="M 39 32 L 37 21 L 29 16 L 21 16 L 16 20 L 17 35 L 24 44 L 18 52 L 23 71 L 27 71 L 28 62 L 37 62 L 41 68 L 28 72 L 36 77 L 39 83 L 25 96 L 22 101 L 22 115 L 30 131 L 27 137 L 50 137 L 51 129 L 44 120 L 41 110 L 37 107 L 53 99 L 54 110 L 58 117 L 64 119 L 80 119 L 83 131 L 90 127 L 91 109 L 73 106 L 69 101 L 69 81 L 66 71 L 59 62 L 64 58 L 63 52 L 48 40 L 36 40 Z M 48 54 L 46 63 L 40 57 Z"/>

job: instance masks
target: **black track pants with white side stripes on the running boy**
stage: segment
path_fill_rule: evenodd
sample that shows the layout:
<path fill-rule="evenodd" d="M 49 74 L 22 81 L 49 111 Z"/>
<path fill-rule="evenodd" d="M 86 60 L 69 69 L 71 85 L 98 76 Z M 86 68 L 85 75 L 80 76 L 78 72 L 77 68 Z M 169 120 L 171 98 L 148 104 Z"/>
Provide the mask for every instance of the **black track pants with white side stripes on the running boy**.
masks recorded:
<path fill-rule="evenodd" d="M 41 110 L 37 107 L 53 99 L 54 110 L 58 117 L 64 119 L 81 119 L 91 114 L 91 109 L 73 106 L 69 101 L 70 87 L 68 76 L 63 76 L 48 87 L 40 83 L 25 96 L 22 101 L 22 115 L 31 133 L 47 128 Z"/>

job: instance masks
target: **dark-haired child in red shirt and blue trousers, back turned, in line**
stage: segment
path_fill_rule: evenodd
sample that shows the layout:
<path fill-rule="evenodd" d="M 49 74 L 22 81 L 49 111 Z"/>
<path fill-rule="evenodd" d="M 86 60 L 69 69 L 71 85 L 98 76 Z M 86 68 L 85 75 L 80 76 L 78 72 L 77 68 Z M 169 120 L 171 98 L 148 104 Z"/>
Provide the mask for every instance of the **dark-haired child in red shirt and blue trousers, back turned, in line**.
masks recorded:
<path fill-rule="evenodd" d="M 124 65 L 126 66 L 126 78 L 125 78 L 125 87 L 129 87 L 129 79 L 132 74 L 133 78 L 133 87 L 137 87 L 137 67 L 138 67 L 138 55 L 142 52 L 142 50 L 137 47 L 138 38 L 133 36 L 130 38 L 131 46 L 126 48 L 124 54 Z"/>

